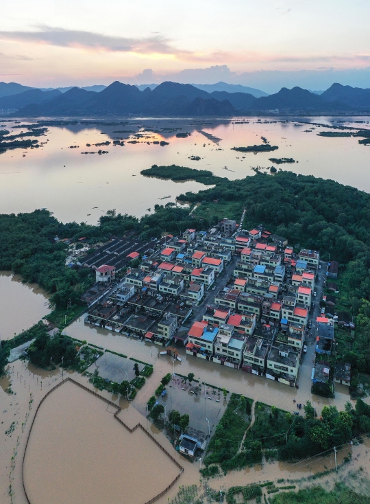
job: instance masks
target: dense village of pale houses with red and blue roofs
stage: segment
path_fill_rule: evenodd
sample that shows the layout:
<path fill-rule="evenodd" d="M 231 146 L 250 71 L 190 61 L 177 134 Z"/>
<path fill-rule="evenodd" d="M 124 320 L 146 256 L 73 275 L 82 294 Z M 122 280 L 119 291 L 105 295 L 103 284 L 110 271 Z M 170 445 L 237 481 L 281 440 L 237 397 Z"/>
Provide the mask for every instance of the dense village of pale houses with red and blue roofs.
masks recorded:
<path fill-rule="evenodd" d="M 79 257 L 96 274 L 82 297 L 86 324 L 160 345 L 179 360 L 185 347 L 194 358 L 297 388 L 301 363 L 312 359 L 312 393 L 334 397 L 334 382 L 349 386 L 350 365 L 330 358 L 338 315 L 330 299 L 320 306 L 327 279 L 338 275 L 335 261 L 295 253 L 286 238 L 227 218 L 208 231 L 130 244 L 113 238 Z"/>

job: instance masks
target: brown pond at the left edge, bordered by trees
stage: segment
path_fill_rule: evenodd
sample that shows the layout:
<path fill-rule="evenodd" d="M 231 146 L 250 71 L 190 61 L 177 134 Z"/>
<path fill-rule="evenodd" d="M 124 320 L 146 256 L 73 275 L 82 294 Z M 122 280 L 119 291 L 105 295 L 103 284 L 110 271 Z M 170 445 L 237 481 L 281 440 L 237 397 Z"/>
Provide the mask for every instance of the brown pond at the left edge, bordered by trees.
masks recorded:
<path fill-rule="evenodd" d="M 0 271 L 0 335 L 11 339 L 50 312 L 48 295 L 37 284 L 23 283 L 20 275 Z"/>

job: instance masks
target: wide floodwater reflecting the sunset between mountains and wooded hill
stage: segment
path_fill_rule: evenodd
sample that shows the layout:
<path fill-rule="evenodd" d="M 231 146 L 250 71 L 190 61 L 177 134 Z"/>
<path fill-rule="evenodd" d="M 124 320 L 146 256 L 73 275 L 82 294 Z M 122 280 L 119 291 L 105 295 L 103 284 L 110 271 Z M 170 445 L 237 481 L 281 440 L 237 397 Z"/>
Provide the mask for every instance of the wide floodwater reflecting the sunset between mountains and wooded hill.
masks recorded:
<path fill-rule="evenodd" d="M 355 123 L 356 117 L 345 124 L 336 117 L 312 117 L 304 121 L 368 128 L 368 118 L 360 119 L 365 124 Z M 233 124 L 235 121 L 243 124 Z M 11 130 L 14 125 L 9 122 L 3 126 Z M 145 132 L 145 127 L 140 126 L 162 133 Z M 136 144 L 125 141 L 124 146 L 93 145 L 118 138 L 132 139 L 130 133 L 114 133 L 122 130 L 140 131 L 144 137 L 138 138 Z M 299 161 L 277 165 L 283 170 L 334 179 L 370 192 L 367 176 L 370 146 L 359 145 L 358 138 L 318 137 L 321 130 L 325 128 L 294 120 L 285 122 L 276 117 L 245 118 L 244 122 L 243 118 L 204 121 L 140 118 L 130 120 L 127 126 L 50 127 L 45 137 L 38 137 L 40 142 L 45 142 L 40 148 L 8 150 L 1 154 L 0 212 L 18 213 L 47 207 L 63 222 L 76 220 L 90 224 L 95 224 L 101 214 L 113 208 L 122 214 L 143 216 L 149 209 L 153 211 L 154 205 L 175 202 L 179 194 L 197 192 L 204 185 L 195 181 L 174 183 L 148 179 L 140 175 L 140 170 L 153 164 L 177 164 L 241 179 L 254 174 L 252 167 L 271 166 L 270 157 L 293 157 Z M 200 131 L 221 139 L 219 144 Z M 13 130 L 13 133 L 19 132 L 19 129 Z M 191 133 L 191 136 L 177 138 L 176 132 Z M 262 144 L 261 137 L 279 149 L 258 154 L 231 150 L 234 146 Z M 162 140 L 169 145 L 153 144 Z M 108 154 L 97 154 L 99 149 L 108 150 Z M 201 159 L 192 161 L 190 156 Z"/>

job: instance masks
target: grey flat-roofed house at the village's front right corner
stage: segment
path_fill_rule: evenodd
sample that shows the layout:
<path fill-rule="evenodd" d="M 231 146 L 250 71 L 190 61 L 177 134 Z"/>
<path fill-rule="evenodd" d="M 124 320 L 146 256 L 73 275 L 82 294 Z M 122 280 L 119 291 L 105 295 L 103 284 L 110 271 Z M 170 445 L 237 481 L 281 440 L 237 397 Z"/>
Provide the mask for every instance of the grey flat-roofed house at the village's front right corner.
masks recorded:
<path fill-rule="evenodd" d="M 299 352 L 290 345 L 273 343 L 267 357 L 266 377 L 295 386 L 299 369 Z"/>

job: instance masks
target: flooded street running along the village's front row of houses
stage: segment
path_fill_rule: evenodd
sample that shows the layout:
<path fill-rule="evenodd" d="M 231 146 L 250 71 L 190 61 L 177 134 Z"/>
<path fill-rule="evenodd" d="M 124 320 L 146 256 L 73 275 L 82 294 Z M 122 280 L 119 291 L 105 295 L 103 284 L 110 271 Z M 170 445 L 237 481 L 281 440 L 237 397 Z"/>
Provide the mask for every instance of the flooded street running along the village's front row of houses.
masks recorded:
<path fill-rule="evenodd" d="M 297 403 L 303 404 L 307 400 L 310 400 L 312 404 L 316 403 L 317 413 L 321 412 L 325 404 L 335 404 L 339 410 L 344 410 L 345 403 L 351 401 L 348 387 L 340 384 L 336 384 L 334 399 L 312 395 L 310 392 L 312 363 L 305 361 L 301 367 L 301 374 L 299 376 L 299 389 L 295 389 L 261 376 L 245 373 L 241 369 L 232 369 L 187 355 L 184 347 L 180 346 L 177 349 L 179 350 L 182 362 L 174 362 L 170 356 L 160 356 L 159 352 L 163 350 L 163 347 L 145 341 L 138 341 L 135 338 L 127 338 L 127 336 L 110 332 L 106 329 L 96 328 L 95 326 L 91 328 L 84 324 L 83 317 L 77 319 L 64 331 L 69 336 L 86 340 L 88 343 L 100 346 L 102 349 L 106 347 L 108 350 L 127 355 L 127 357 L 134 357 L 143 360 L 143 362 L 148 363 L 150 361 L 150 363 L 154 363 L 153 374 L 150 380 L 147 380 L 148 382 L 145 387 L 143 387 L 143 392 L 138 395 L 138 400 L 140 400 L 140 397 L 143 398 L 140 408 L 142 412 L 145 409 L 145 401 L 150 396 L 153 396 L 162 376 L 173 371 L 183 376 L 187 376 L 192 372 L 195 374 L 195 379 L 200 382 L 206 382 L 221 389 L 225 387 L 230 392 L 242 393 L 256 401 L 273 404 L 291 412 L 297 409 Z M 293 402 L 293 399 L 296 400 L 296 403 Z M 171 406 L 168 407 L 171 409 Z M 187 412 L 184 411 L 182 413 Z M 202 425 L 202 428 L 204 429 L 204 425 Z"/>

